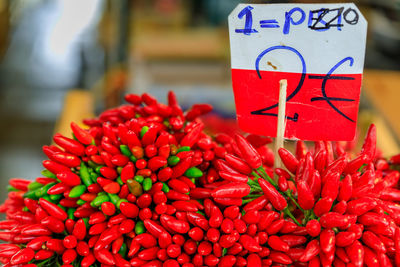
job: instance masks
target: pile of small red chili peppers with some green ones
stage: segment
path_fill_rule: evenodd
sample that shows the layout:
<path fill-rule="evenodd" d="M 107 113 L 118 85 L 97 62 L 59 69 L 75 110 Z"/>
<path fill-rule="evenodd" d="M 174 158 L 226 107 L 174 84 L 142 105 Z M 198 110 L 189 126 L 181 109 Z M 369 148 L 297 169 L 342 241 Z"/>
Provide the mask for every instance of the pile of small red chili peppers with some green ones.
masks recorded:
<path fill-rule="evenodd" d="M 42 177 L 11 179 L 4 266 L 400 266 L 400 155 L 209 135 L 149 94 L 54 136 Z"/>

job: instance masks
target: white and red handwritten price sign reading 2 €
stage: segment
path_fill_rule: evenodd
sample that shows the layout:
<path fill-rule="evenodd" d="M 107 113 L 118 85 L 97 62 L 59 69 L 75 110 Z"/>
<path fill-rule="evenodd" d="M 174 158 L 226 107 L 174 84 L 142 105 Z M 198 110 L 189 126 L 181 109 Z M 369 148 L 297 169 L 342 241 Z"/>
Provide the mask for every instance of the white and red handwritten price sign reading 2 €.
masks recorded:
<path fill-rule="evenodd" d="M 366 32 L 354 4 L 239 4 L 229 15 L 239 127 L 276 136 L 286 79 L 286 138 L 352 140 Z"/>

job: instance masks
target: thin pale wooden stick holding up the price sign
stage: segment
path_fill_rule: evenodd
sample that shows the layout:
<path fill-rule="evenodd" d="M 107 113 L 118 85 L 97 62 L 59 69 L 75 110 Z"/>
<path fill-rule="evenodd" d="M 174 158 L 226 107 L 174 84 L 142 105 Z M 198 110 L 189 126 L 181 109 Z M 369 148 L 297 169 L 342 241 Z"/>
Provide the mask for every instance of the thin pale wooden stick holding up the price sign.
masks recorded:
<path fill-rule="evenodd" d="M 278 124 L 276 130 L 276 139 L 275 139 L 275 162 L 274 167 L 280 168 L 282 166 L 281 159 L 279 157 L 278 150 L 283 147 L 283 139 L 285 135 L 285 126 L 286 126 L 286 90 L 287 90 L 287 80 L 279 81 L 279 106 L 278 106 Z"/>

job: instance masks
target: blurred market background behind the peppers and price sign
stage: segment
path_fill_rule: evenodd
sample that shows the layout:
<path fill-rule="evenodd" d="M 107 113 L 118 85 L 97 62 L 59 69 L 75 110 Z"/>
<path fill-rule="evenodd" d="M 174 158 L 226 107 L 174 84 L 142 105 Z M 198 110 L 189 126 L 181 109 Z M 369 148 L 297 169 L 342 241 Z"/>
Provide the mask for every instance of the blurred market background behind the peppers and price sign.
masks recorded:
<path fill-rule="evenodd" d="M 0 0 L 0 200 L 7 180 L 40 176 L 55 132 L 118 105 L 126 92 L 183 106 L 235 127 L 227 16 L 238 0 Z M 296 1 L 247 1 L 287 3 Z M 301 1 L 312 2 L 312 1 Z M 316 1 L 318 3 L 322 1 Z M 360 122 L 399 152 L 400 1 L 355 1 L 369 23 Z"/>

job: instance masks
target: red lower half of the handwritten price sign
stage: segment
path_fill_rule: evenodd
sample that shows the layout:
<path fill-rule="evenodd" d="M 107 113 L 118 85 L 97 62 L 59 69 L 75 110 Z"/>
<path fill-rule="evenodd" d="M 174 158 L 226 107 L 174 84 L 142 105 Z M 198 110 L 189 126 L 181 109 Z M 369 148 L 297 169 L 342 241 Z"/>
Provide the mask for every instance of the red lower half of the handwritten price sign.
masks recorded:
<path fill-rule="evenodd" d="M 279 81 L 288 81 L 285 137 L 354 139 L 362 74 L 305 74 L 232 69 L 239 127 L 276 136 Z M 303 78 L 303 79 L 302 79 Z"/>

